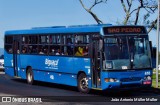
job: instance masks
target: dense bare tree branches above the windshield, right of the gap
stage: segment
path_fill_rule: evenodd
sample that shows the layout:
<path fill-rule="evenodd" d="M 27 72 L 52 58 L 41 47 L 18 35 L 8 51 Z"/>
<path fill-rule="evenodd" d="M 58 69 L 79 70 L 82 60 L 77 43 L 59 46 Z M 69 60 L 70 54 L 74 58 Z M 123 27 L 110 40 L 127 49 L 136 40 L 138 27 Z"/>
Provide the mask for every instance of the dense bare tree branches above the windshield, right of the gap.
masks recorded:
<path fill-rule="evenodd" d="M 137 6 L 131 9 L 135 3 L 138 3 Z M 142 11 L 141 14 L 143 15 L 144 24 L 149 26 L 148 32 L 150 32 L 152 28 L 155 27 L 157 18 L 155 20 L 150 20 L 149 17 L 154 14 L 158 8 L 156 0 L 121 0 L 121 5 L 126 14 L 123 21 L 124 25 L 138 25 L 138 22 L 140 20 L 140 11 Z M 131 17 L 132 21 L 130 21 Z"/>

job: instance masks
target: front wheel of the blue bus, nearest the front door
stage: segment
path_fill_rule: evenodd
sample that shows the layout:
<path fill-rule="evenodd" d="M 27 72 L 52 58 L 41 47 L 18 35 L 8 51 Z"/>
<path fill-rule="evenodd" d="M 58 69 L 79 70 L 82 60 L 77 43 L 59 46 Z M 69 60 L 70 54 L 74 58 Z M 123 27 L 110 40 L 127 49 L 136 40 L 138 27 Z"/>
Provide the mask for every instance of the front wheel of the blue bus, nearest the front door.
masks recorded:
<path fill-rule="evenodd" d="M 81 73 L 78 76 L 78 90 L 82 93 L 88 93 L 90 90 L 88 87 L 87 76 L 84 73 Z"/>

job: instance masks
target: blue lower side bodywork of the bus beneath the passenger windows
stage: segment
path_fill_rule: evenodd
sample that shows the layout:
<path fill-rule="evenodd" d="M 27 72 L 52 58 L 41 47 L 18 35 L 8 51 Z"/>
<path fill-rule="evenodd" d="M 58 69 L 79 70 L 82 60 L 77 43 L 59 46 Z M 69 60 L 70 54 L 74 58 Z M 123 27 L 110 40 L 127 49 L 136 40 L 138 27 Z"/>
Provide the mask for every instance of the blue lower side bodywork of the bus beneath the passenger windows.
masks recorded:
<path fill-rule="evenodd" d="M 91 77 L 90 58 L 43 55 L 17 55 L 18 76 L 26 79 L 27 67 L 32 67 L 34 80 L 77 86 L 77 74 L 83 71 Z M 5 56 L 5 72 L 14 76 L 13 55 Z M 91 87 L 91 81 L 89 80 Z"/>

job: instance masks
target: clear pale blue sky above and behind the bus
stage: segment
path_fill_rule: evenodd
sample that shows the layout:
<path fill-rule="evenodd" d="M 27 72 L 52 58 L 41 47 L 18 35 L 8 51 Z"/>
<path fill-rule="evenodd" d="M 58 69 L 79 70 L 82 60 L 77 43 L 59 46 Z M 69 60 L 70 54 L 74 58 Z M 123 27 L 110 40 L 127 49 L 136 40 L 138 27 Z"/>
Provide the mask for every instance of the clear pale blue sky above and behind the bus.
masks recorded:
<path fill-rule="evenodd" d="M 92 0 L 85 2 L 87 6 L 90 3 Z M 113 25 L 125 17 L 120 0 L 110 0 L 107 4 L 96 6 L 93 11 L 104 23 Z M 7 30 L 86 24 L 96 22 L 82 8 L 79 0 L 0 0 L 0 48 L 4 46 Z M 149 36 L 155 45 L 156 31 Z"/>

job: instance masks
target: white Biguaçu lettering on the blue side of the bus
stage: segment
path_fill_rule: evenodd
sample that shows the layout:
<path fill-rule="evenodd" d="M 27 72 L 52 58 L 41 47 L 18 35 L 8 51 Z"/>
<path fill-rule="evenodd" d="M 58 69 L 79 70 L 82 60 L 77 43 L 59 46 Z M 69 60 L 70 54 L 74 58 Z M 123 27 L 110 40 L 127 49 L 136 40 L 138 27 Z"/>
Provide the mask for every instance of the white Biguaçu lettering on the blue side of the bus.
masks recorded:
<path fill-rule="evenodd" d="M 52 67 L 53 69 L 58 69 L 58 62 L 59 62 L 59 59 L 57 59 L 57 60 L 50 60 L 49 58 L 45 59 L 45 64 L 48 67 Z"/>

